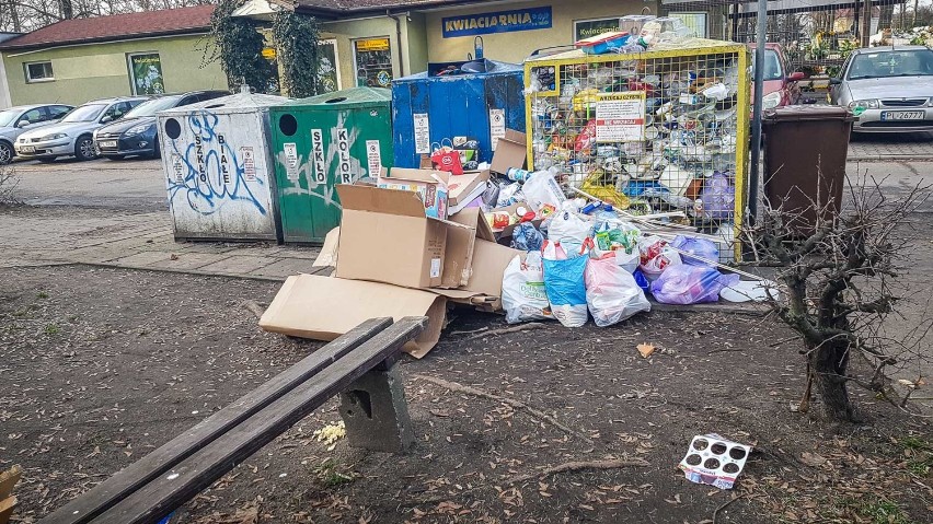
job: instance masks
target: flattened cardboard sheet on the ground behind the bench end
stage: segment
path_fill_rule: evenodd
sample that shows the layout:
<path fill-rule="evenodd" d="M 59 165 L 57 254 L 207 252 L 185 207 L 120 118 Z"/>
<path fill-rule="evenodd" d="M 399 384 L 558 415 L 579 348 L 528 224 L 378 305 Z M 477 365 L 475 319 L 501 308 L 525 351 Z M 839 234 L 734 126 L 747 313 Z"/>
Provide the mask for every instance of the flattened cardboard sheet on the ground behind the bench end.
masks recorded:
<path fill-rule="evenodd" d="M 428 291 L 379 282 L 299 275 L 288 277 L 260 327 L 313 340 L 333 340 L 369 318 L 427 316 L 427 328 L 403 348 L 421 359 L 437 343 L 447 299 Z"/>

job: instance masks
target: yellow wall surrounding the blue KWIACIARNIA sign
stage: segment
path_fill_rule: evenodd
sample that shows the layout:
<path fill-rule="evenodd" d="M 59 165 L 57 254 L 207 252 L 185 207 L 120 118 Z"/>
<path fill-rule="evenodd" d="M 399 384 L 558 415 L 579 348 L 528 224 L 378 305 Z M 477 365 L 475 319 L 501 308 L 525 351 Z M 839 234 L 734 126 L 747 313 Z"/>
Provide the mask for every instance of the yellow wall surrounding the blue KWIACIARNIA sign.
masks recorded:
<path fill-rule="evenodd" d="M 456 9 L 428 13 L 425 16 L 428 59 L 431 62 L 465 60 L 473 53 L 474 36 L 444 38 L 441 19 L 464 14 L 491 13 L 534 7 L 551 5 L 552 26 L 549 30 L 493 33 L 483 37 L 486 58 L 505 62 L 521 63 L 534 49 L 574 43 L 574 21 L 591 20 L 625 14 L 641 14 L 642 8 L 650 8 L 657 14 L 657 2 L 642 0 L 554 0 L 534 2 L 507 2 L 477 9 Z"/>

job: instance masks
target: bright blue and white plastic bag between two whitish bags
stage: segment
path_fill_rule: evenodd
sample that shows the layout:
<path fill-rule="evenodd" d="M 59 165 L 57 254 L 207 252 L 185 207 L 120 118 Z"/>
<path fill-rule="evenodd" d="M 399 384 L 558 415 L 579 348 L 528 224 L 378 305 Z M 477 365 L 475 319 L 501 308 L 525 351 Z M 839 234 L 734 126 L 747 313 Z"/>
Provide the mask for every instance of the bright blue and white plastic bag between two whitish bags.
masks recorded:
<path fill-rule="evenodd" d="M 551 303 L 551 313 L 564 327 L 586 324 L 586 282 L 584 273 L 588 256 L 566 258 L 558 243 L 544 243 L 544 291 Z M 563 258 L 562 258 L 563 257 Z"/>

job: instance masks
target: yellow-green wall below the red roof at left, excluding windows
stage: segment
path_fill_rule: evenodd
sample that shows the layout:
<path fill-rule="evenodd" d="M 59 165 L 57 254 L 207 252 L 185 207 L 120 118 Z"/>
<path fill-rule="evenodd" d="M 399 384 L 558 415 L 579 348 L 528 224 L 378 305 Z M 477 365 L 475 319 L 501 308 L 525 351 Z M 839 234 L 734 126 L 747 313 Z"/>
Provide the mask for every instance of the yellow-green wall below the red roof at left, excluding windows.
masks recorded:
<path fill-rule="evenodd" d="M 159 53 L 166 92 L 226 90 L 218 62 L 201 67 L 204 36 L 173 36 L 57 49 L 4 51 L 3 62 L 14 105 L 60 102 L 83 104 L 92 98 L 129 95 L 127 54 Z M 55 81 L 26 83 L 24 63 L 51 60 Z"/>

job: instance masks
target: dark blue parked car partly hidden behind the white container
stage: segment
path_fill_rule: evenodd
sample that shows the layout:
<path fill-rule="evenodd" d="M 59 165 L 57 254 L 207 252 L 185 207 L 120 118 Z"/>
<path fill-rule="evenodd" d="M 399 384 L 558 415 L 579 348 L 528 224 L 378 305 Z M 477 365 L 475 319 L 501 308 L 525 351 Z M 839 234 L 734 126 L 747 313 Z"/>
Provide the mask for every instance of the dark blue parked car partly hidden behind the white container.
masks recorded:
<path fill-rule="evenodd" d="M 101 156 L 119 160 L 128 155 L 159 158 L 156 114 L 183 105 L 228 96 L 229 91 L 193 91 L 161 95 L 139 104 L 119 121 L 94 131 L 94 145 Z"/>

